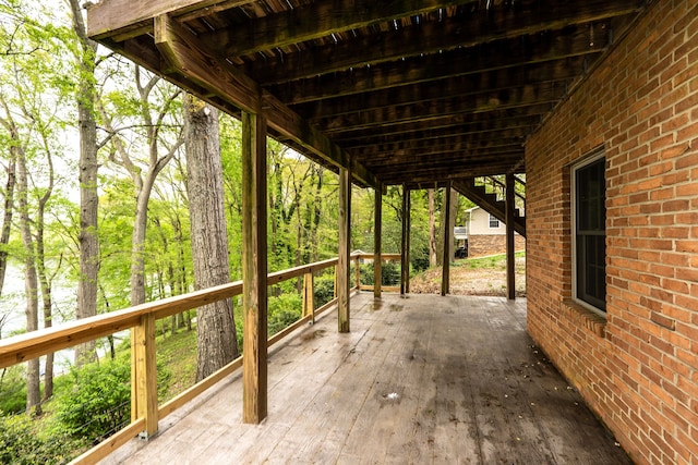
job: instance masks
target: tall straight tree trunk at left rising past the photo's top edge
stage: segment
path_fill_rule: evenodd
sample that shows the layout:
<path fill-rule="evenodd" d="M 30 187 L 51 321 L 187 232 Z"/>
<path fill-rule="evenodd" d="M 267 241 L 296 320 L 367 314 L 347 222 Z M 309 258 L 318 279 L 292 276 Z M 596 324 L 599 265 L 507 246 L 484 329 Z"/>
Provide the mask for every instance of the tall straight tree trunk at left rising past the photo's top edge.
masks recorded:
<path fill-rule="evenodd" d="M 80 0 L 70 0 L 73 28 L 80 39 L 80 86 L 76 94 L 80 123 L 80 280 L 77 282 L 76 317 L 97 315 L 97 276 L 99 273 L 99 241 L 97 234 L 97 124 L 95 122 L 95 57 L 97 44 L 87 38 Z M 75 365 L 95 360 L 95 341 L 75 347 Z"/>

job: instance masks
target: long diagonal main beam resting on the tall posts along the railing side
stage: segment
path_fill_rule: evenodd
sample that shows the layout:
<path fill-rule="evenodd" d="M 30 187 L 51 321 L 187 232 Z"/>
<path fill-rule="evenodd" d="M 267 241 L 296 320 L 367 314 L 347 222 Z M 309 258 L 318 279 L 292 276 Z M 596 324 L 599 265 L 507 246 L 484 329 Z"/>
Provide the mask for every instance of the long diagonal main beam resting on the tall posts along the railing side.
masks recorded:
<path fill-rule="evenodd" d="M 155 44 L 169 66 L 163 70 L 166 74 L 181 73 L 218 99 L 243 111 L 255 114 L 264 112 L 274 131 L 337 168 L 351 168 L 354 179 L 361 184 L 375 185 L 375 178 L 365 167 L 352 163 L 349 155 L 326 135 L 262 89 L 253 79 L 207 51 L 193 34 L 169 15 L 156 17 Z"/>

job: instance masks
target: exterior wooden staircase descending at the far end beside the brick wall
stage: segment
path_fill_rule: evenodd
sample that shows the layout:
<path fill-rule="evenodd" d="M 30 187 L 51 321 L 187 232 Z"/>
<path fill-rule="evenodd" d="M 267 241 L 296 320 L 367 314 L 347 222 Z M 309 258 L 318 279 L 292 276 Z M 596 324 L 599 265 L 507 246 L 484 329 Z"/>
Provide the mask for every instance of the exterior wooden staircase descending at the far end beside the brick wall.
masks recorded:
<path fill-rule="evenodd" d="M 526 186 L 518 176 L 514 176 L 517 184 Z M 453 186 L 460 194 L 474 201 L 480 208 L 506 223 L 506 186 L 495 176 L 472 178 L 456 181 Z M 516 192 L 517 189 L 515 189 Z M 516 193 L 514 209 L 514 231 L 526 237 L 526 197 Z"/>

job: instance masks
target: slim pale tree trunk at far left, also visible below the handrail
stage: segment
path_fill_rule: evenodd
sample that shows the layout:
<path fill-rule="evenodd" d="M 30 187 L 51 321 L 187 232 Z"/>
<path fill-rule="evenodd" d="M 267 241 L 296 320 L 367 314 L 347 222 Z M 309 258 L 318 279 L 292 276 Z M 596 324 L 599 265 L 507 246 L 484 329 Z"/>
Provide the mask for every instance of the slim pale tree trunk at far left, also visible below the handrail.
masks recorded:
<path fill-rule="evenodd" d="M 22 151 L 22 150 L 20 150 Z M 28 182 L 25 154 L 17 154 L 17 194 L 20 209 L 20 234 L 24 246 L 24 290 L 26 293 L 26 331 L 39 329 L 38 279 L 36 277 L 36 252 L 28 211 Z M 26 412 L 41 414 L 41 391 L 39 386 L 39 359 L 27 362 L 26 369 Z"/>

